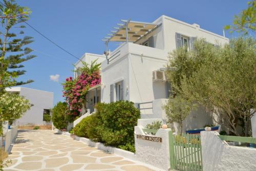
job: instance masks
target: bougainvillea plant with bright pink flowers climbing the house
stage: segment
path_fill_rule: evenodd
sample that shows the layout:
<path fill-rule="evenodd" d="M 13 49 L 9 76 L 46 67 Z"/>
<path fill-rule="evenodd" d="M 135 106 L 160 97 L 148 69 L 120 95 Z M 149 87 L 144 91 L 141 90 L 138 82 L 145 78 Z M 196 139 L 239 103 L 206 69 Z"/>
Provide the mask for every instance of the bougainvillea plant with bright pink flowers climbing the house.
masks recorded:
<path fill-rule="evenodd" d="M 82 63 L 83 67 L 75 71 L 80 75 L 75 79 L 69 77 L 62 83 L 63 97 L 66 97 L 66 102 L 69 104 L 69 114 L 75 116 L 81 112 L 88 90 L 101 83 L 100 64 L 97 64 L 96 60 L 92 61 L 91 65 L 86 62 Z"/>

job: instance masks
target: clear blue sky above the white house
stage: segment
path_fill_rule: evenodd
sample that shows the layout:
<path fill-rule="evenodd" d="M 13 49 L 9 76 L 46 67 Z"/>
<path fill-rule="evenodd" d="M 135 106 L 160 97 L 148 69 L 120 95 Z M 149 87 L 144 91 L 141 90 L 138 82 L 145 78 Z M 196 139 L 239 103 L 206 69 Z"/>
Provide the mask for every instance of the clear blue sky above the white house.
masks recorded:
<path fill-rule="evenodd" d="M 222 35 L 233 16 L 247 7 L 247 1 L 88 1 L 88 0 L 26 0 L 17 3 L 31 9 L 28 21 L 38 31 L 77 57 L 85 52 L 102 54 L 101 39 L 120 23 L 120 19 L 153 22 L 167 15 Z M 54 92 L 54 104 L 63 101 L 62 87 L 66 77 L 73 76 L 76 58 L 63 52 L 44 37 L 27 27 L 25 35 L 34 37 L 29 45 L 36 58 L 24 62 L 27 73 L 19 80 L 33 79 L 24 87 Z M 232 37 L 226 32 L 226 37 Z M 117 45 L 113 45 L 111 50 Z M 59 82 L 50 75 L 59 75 Z"/>

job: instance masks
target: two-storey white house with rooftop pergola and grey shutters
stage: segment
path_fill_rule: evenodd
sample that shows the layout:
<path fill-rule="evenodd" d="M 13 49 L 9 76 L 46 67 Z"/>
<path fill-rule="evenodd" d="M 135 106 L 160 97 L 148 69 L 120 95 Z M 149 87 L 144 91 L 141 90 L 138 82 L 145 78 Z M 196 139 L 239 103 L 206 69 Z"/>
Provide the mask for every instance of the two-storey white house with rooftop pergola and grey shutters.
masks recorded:
<path fill-rule="evenodd" d="M 104 60 L 102 55 L 93 54 L 93 58 L 99 58 L 101 62 L 101 85 L 97 86 L 97 93 L 90 94 L 91 104 L 87 104 L 86 108 L 91 111 L 92 105 L 99 101 L 129 100 L 139 104 L 142 118 L 163 118 L 162 104 L 170 90 L 163 72 L 168 53 L 182 46 L 193 49 L 196 38 L 205 38 L 211 44 L 218 45 L 229 41 L 226 37 L 201 29 L 198 24 L 187 24 L 165 15 L 152 23 L 121 22 L 117 28 L 114 27 L 115 31 L 102 39 L 106 44 Z M 122 44 L 110 52 L 110 41 L 120 41 Z M 83 60 L 89 61 L 91 59 L 87 58 L 91 57 L 92 54 L 85 55 Z M 79 63 L 76 63 L 76 68 Z M 191 114 L 189 122 L 194 122 L 193 118 Z M 206 123 L 211 121 L 205 116 L 201 119 Z"/>

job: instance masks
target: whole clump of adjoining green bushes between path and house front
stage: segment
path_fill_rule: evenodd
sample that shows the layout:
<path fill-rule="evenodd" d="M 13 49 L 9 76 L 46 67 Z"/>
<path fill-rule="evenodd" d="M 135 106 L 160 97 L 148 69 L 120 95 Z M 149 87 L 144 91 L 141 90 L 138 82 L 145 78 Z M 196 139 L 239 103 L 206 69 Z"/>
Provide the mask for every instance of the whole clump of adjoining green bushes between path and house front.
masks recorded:
<path fill-rule="evenodd" d="M 82 119 L 75 126 L 74 133 L 80 137 L 134 152 L 134 126 L 140 117 L 140 111 L 134 107 L 134 103 L 98 103 L 96 111 Z"/>

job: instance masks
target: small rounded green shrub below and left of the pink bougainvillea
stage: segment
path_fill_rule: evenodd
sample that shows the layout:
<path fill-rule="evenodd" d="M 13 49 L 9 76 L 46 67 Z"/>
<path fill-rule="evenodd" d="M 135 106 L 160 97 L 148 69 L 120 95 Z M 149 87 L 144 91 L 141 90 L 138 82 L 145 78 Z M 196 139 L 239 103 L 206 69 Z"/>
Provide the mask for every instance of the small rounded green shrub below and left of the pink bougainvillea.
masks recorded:
<path fill-rule="evenodd" d="M 66 129 L 68 122 L 74 121 L 74 116 L 68 115 L 67 111 L 68 105 L 65 102 L 58 102 L 52 110 L 52 122 L 59 130 Z"/>

